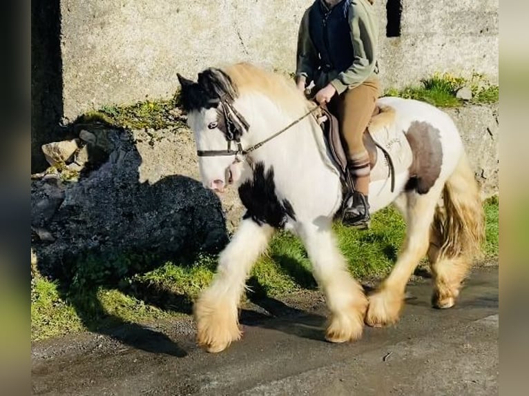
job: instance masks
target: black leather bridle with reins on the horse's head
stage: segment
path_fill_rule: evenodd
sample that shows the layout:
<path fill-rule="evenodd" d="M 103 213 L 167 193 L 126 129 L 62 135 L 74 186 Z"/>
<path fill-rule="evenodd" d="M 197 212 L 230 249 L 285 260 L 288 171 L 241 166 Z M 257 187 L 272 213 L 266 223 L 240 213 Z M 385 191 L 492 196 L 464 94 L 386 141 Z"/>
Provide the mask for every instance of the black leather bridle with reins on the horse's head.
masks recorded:
<path fill-rule="evenodd" d="M 240 136 L 242 133 L 247 132 L 250 128 L 249 123 L 242 117 L 240 112 L 238 112 L 233 107 L 233 99 L 229 95 L 224 95 L 220 99 L 212 99 L 210 103 L 218 103 L 218 106 L 220 106 L 220 112 L 222 114 L 222 117 L 224 117 L 224 126 L 226 128 L 224 132 L 224 137 L 226 137 L 228 147 L 226 150 L 197 150 L 198 157 L 220 157 L 220 156 L 229 156 L 233 155 L 235 156 L 235 159 L 240 159 L 240 157 L 247 157 L 251 152 L 257 150 L 260 148 L 264 143 L 267 143 L 268 141 L 271 141 L 275 137 L 278 137 L 283 132 L 289 130 L 292 128 L 296 123 L 302 121 L 302 119 L 305 119 L 305 117 L 308 117 L 312 113 L 314 113 L 316 110 L 321 108 L 322 105 L 316 106 L 306 112 L 304 115 L 299 117 L 298 119 L 292 121 L 289 123 L 289 125 L 285 126 L 285 128 L 282 128 L 278 132 L 274 133 L 273 135 L 267 137 L 267 139 L 264 139 L 260 141 L 259 143 L 254 144 L 253 146 L 249 148 L 242 148 L 242 144 L 240 143 Z M 237 146 L 237 150 L 232 150 L 231 145 L 235 143 Z"/>

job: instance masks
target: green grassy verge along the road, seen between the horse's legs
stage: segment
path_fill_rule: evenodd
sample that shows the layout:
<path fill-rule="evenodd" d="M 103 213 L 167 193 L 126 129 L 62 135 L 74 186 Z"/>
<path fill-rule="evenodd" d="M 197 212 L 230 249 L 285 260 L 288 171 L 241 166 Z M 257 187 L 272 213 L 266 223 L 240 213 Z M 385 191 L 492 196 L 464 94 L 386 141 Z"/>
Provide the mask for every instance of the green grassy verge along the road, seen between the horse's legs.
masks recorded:
<path fill-rule="evenodd" d="M 485 201 L 484 208 L 487 241 L 483 250 L 490 259 L 499 253 L 499 199 Z M 362 279 L 388 273 L 401 246 L 405 226 L 396 210 L 386 208 L 374 215 L 372 228 L 367 231 L 340 224 L 334 230 L 340 249 L 349 261 L 349 269 Z M 86 271 L 82 273 L 90 277 L 88 281 L 77 279 L 68 287 L 37 274 L 31 285 L 32 340 L 189 313 L 193 298 L 209 284 L 215 266 L 215 257 L 209 255 L 199 255 L 191 264 L 165 261 L 154 270 L 125 277 L 117 284 L 99 282 L 93 288 L 87 285 L 97 276 Z M 248 284 L 256 297 L 260 293 L 278 297 L 316 288 L 305 248 L 297 237 L 287 232 L 273 237 L 269 250 L 253 268 Z"/>

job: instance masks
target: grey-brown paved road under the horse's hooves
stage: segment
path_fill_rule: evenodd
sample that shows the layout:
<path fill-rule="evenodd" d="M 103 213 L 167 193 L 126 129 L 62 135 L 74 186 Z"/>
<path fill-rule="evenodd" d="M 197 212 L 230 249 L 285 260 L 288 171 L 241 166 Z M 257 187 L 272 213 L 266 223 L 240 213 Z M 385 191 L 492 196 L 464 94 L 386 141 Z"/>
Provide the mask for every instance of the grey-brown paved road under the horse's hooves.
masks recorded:
<path fill-rule="evenodd" d="M 317 292 L 244 310 L 244 338 L 220 355 L 182 320 L 32 346 L 36 395 L 495 395 L 498 273 L 477 270 L 450 310 L 430 308 L 430 284 L 410 284 L 403 318 L 366 328 L 355 344 L 323 341 Z M 297 307 L 297 308 L 291 308 Z"/>

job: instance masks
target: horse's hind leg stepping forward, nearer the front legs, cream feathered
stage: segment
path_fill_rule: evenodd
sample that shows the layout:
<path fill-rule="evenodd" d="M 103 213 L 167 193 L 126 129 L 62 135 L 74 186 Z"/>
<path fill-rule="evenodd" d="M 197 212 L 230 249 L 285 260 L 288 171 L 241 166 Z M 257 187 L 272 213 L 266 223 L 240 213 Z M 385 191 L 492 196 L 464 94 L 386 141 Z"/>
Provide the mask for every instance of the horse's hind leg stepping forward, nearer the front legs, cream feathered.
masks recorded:
<path fill-rule="evenodd" d="M 381 327 L 398 321 L 404 304 L 407 281 L 420 259 L 426 254 L 430 241 L 430 225 L 441 195 L 442 184 L 438 181 L 427 194 L 407 192 L 399 197 L 397 208 L 404 213 L 407 221 L 403 249 L 398 255 L 395 267 L 369 298 L 365 323 Z"/>

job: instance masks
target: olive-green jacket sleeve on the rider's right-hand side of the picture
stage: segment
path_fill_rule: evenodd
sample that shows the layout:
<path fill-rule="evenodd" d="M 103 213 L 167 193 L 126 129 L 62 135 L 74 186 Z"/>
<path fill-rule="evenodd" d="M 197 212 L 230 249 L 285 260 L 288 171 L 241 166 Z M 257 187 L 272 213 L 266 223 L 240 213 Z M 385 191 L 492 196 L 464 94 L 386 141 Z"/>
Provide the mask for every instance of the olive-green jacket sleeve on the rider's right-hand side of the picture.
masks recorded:
<path fill-rule="evenodd" d="M 378 26 L 371 5 L 364 0 L 352 0 L 349 10 L 349 24 L 354 48 L 354 61 L 347 70 L 331 81 L 336 92 L 341 94 L 347 88 L 363 83 L 375 70 Z"/>

